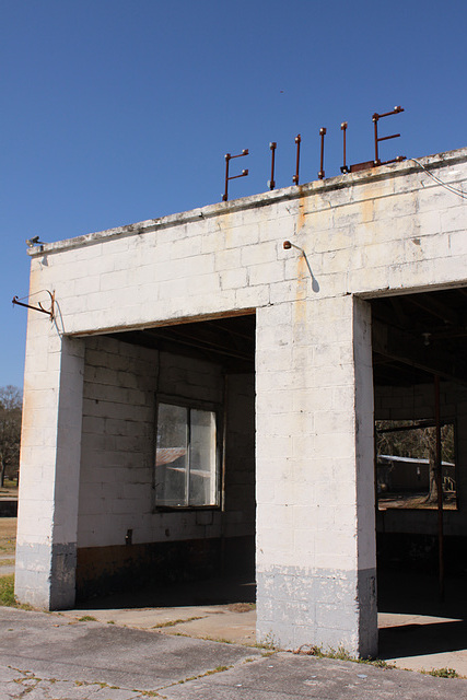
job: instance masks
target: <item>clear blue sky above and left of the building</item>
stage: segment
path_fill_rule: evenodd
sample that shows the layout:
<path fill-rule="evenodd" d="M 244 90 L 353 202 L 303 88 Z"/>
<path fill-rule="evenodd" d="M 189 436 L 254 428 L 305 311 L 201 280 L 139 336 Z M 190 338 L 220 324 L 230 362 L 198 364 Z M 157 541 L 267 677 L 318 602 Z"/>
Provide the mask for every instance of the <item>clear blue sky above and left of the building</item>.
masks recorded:
<path fill-rule="evenodd" d="M 465 0 L 1 0 L 0 386 L 23 384 L 25 238 L 59 241 L 466 145 Z"/>

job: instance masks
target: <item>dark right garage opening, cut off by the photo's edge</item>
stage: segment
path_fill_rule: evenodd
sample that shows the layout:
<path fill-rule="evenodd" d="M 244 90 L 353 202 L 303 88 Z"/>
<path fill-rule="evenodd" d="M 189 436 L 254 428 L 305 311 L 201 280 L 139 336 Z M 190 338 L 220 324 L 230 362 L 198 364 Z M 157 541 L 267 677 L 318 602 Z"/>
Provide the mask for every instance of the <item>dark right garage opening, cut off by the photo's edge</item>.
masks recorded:
<path fill-rule="evenodd" d="M 371 301 L 380 653 L 466 649 L 467 292 Z"/>

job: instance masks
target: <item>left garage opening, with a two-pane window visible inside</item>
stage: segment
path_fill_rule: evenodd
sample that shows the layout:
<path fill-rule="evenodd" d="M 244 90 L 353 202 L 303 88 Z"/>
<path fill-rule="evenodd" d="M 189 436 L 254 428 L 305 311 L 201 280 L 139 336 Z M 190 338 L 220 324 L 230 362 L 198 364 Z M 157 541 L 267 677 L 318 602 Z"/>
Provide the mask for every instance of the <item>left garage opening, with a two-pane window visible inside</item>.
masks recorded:
<path fill-rule="evenodd" d="M 86 338 L 84 373 L 77 599 L 253 603 L 255 315 Z"/>

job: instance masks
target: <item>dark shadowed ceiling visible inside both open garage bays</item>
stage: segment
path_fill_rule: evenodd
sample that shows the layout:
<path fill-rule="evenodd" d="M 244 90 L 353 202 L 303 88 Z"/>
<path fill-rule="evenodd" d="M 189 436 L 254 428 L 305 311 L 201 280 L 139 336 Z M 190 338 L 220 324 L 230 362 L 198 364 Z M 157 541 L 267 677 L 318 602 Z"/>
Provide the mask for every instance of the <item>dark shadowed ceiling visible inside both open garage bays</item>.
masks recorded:
<path fill-rule="evenodd" d="M 467 288 L 371 300 L 375 385 L 467 385 Z M 112 334 L 125 342 L 255 370 L 254 314 Z"/>

